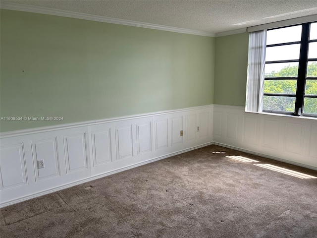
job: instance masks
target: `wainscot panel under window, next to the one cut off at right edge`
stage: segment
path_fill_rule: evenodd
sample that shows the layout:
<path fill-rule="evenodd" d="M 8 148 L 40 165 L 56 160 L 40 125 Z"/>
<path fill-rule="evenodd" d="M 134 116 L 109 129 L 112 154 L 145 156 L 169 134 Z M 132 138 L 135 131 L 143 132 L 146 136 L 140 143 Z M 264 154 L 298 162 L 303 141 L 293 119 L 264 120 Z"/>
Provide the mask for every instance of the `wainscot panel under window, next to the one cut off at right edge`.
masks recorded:
<path fill-rule="evenodd" d="M 303 153 L 305 124 L 300 122 L 285 122 L 284 150 L 291 153 Z"/>

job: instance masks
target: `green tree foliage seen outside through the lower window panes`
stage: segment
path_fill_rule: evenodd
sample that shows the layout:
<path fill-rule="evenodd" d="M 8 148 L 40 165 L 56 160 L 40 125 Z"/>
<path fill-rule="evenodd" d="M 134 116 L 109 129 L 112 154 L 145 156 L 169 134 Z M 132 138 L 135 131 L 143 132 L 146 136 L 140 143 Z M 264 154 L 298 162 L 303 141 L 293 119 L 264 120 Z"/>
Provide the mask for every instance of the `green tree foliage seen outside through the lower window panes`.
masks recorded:
<path fill-rule="evenodd" d="M 272 71 L 265 77 L 297 77 L 298 66 L 286 66 L 280 71 Z M 308 77 L 317 77 L 317 62 L 310 63 L 307 67 Z M 265 80 L 264 93 L 295 94 L 297 80 Z M 317 80 L 306 80 L 305 94 L 317 95 Z M 295 97 L 264 96 L 264 110 L 294 112 Z M 317 99 L 306 98 L 304 113 L 317 114 Z"/>

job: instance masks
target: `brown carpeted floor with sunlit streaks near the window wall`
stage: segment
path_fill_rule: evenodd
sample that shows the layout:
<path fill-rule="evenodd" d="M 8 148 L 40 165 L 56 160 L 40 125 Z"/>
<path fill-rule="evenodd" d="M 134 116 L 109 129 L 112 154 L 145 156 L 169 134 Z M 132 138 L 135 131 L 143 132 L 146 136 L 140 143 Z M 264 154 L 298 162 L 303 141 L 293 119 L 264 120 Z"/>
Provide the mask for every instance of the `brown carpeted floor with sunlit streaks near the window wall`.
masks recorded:
<path fill-rule="evenodd" d="M 0 237 L 317 238 L 317 179 L 256 164 L 317 177 L 211 145 L 2 208 Z"/>

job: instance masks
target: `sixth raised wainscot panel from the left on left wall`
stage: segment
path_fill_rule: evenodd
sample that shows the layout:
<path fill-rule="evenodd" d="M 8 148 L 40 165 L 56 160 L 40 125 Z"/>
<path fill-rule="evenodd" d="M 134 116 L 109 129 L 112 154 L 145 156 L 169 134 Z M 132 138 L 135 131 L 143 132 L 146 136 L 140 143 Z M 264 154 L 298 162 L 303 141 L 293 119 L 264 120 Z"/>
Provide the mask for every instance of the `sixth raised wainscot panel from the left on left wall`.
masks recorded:
<path fill-rule="evenodd" d="M 137 154 L 143 154 L 152 151 L 152 126 L 151 121 L 137 124 Z"/>

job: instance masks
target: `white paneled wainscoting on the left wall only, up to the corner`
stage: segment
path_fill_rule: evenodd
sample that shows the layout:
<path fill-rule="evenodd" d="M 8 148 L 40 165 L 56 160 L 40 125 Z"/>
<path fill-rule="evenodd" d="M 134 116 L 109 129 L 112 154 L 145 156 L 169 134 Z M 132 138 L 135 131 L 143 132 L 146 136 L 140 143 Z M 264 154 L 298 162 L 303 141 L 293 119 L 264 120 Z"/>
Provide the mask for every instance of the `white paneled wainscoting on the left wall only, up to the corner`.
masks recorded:
<path fill-rule="evenodd" d="M 211 144 L 212 108 L 1 133 L 0 206 Z M 42 160 L 44 168 L 39 169 Z"/>

